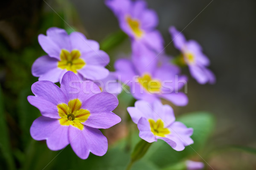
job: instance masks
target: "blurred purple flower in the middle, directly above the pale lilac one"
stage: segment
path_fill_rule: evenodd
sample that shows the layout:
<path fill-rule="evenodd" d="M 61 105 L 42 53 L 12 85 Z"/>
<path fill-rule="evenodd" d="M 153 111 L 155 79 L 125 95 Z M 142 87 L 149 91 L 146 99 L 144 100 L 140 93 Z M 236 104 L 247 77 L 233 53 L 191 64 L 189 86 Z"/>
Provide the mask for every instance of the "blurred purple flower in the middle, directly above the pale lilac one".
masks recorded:
<path fill-rule="evenodd" d="M 151 60 L 154 58 L 152 51 L 143 48 L 140 53 L 134 52 L 133 55 L 132 60 L 118 59 L 115 69 L 121 81 L 130 87 L 135 99 L 153 102 L 164 98 L 179 106 L 188 103 L 187 96 L 178 92 L 185 85 L 186 77 L 178 76 L 180 69 L 177 66 L 158 66 L 157 59 Z"/>

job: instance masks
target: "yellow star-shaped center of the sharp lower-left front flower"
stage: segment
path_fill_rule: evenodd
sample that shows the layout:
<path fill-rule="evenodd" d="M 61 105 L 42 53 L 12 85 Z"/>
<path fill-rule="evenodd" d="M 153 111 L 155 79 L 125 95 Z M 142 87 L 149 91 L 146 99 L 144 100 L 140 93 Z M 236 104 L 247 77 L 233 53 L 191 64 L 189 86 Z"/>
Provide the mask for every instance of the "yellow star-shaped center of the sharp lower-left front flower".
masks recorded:
<path fill-rule="evenodd" d="M 58 114 L 61 117 L 61 119 L 59 119 L 60 124 L 64 126 L 72 125 L 83 130 L 84 125 L 81 123 L 88 119 L 90 112 L 86 109 L 80 109 L 81 105 L 82 103 L 79 99 L 72 99 L 68 104 L 58 104 Z"/>

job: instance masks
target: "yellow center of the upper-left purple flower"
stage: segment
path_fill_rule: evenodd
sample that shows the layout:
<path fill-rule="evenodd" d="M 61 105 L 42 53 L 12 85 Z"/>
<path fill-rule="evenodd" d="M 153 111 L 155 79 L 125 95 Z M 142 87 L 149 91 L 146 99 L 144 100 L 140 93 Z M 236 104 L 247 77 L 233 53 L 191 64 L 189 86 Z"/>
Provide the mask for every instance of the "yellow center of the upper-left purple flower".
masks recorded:
<path fill-rule="evenodd" d="M 80 58 L 81 53 L 79 50 L 72 50 L 71 53 L 65 49 L 61 50 L 60 58 L 58 61 L 58 68 L 66 69 L 77 73 L 77 70 L 84 67 L 85 62 Z"/>

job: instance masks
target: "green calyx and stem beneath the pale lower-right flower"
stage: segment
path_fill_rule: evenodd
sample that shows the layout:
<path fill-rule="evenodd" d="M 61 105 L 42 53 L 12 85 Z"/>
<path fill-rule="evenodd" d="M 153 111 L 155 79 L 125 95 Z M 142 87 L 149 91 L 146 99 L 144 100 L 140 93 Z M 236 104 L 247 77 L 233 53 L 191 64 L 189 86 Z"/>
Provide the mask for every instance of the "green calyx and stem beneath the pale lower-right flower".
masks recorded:
<path fill-rule="evenodd" d="M 145 153 L 147 153 L 148 148 L 151 146 L 151 144 L 152 143 L 148 143 L 143 139 L 139 143 L 137 143 L 134 151 L 131 153 L 131 161 L 128 164 L 126 170 L 130 170 L 134 162 L 140 160 L 145 155 Z"/>

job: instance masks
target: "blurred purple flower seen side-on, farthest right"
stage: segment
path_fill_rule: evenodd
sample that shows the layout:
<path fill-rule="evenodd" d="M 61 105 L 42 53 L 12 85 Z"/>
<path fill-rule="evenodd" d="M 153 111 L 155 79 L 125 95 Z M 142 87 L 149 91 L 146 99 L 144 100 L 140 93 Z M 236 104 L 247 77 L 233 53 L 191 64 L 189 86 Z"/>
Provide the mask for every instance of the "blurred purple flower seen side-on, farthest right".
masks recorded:
<path fill-rule="evenodd" d="M 176 30 L 175 27 L 170 27 L 169 32 L 175 48 L 181 51 L 184 64 L 189 66 L 189 71 L 198 83 L 210 84 L 215 83 L 215 76 L 207 66 L 209 66 L 209 59 L 203 54 L 201 46 L 195 40 L 186 41 L 183 34 Z"/>

